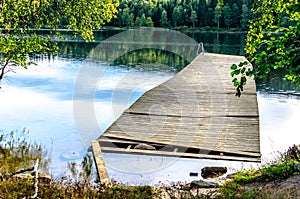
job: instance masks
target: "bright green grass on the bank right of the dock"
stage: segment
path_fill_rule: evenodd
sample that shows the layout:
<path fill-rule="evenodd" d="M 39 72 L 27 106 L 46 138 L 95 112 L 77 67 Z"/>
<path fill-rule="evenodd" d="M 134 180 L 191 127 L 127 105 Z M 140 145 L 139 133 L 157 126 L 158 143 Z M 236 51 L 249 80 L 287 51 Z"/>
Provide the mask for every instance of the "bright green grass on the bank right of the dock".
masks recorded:
<path fill-rule="evenodd" d="M 262 187 L 247 189 L 250 183 L 264 185 L 268 182 L 278 184 L 283 180 L 300 174 L 300 147 L 292 146 L 280 160 L 272 165 L 263 166 L 258 170 L 247 170 L 235 175 L 233 181 L 219 189 L 219 198 L 298 198 L 296 190 L 262 189 Z M 279 192 L 278 192 L 279 191 Z"/>

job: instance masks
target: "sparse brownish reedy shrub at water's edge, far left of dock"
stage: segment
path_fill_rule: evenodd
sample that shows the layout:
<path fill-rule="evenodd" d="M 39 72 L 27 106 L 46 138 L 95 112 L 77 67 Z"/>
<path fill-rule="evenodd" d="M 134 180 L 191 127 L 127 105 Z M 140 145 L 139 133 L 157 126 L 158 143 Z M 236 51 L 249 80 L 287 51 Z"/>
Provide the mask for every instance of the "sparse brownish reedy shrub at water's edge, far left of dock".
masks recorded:
<path fill-rule="evenodd" d="M 0 132 L 0 198 L 23 198 L 34 194 L 31 178 L 10 175 L 32 168 L 37 159 L 40 160 L 39 170 L 48 170 L 47 152 L 28 138 L 25 129 L 22 132 Z"/>

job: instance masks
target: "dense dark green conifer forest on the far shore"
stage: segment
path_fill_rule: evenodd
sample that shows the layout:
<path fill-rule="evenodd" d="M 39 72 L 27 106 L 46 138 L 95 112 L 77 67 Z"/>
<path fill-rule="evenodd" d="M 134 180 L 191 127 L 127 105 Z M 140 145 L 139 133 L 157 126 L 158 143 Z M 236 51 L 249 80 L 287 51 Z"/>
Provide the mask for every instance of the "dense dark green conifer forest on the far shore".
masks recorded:
<path fill-rule="evenodd" d="M 252 0 L 121 0 L 117 27 L 223 27 L 247 29 Z"/>

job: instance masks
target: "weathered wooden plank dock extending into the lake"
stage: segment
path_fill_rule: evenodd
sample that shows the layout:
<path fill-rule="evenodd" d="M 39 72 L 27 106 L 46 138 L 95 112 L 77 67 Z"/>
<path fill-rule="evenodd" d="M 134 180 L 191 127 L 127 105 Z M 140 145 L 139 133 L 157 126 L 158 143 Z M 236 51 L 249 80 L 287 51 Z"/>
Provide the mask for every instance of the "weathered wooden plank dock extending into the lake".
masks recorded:
<path fill-rule="evenodd" d="M 100 146 L 110 153 L 260 162 L 255 82 L 248 80 L 238 98 L 230 77 L 230 65 L 240 61 L 201 54 L 146 92 L 93 142 L 96 165 L 104 164 Z"/>

